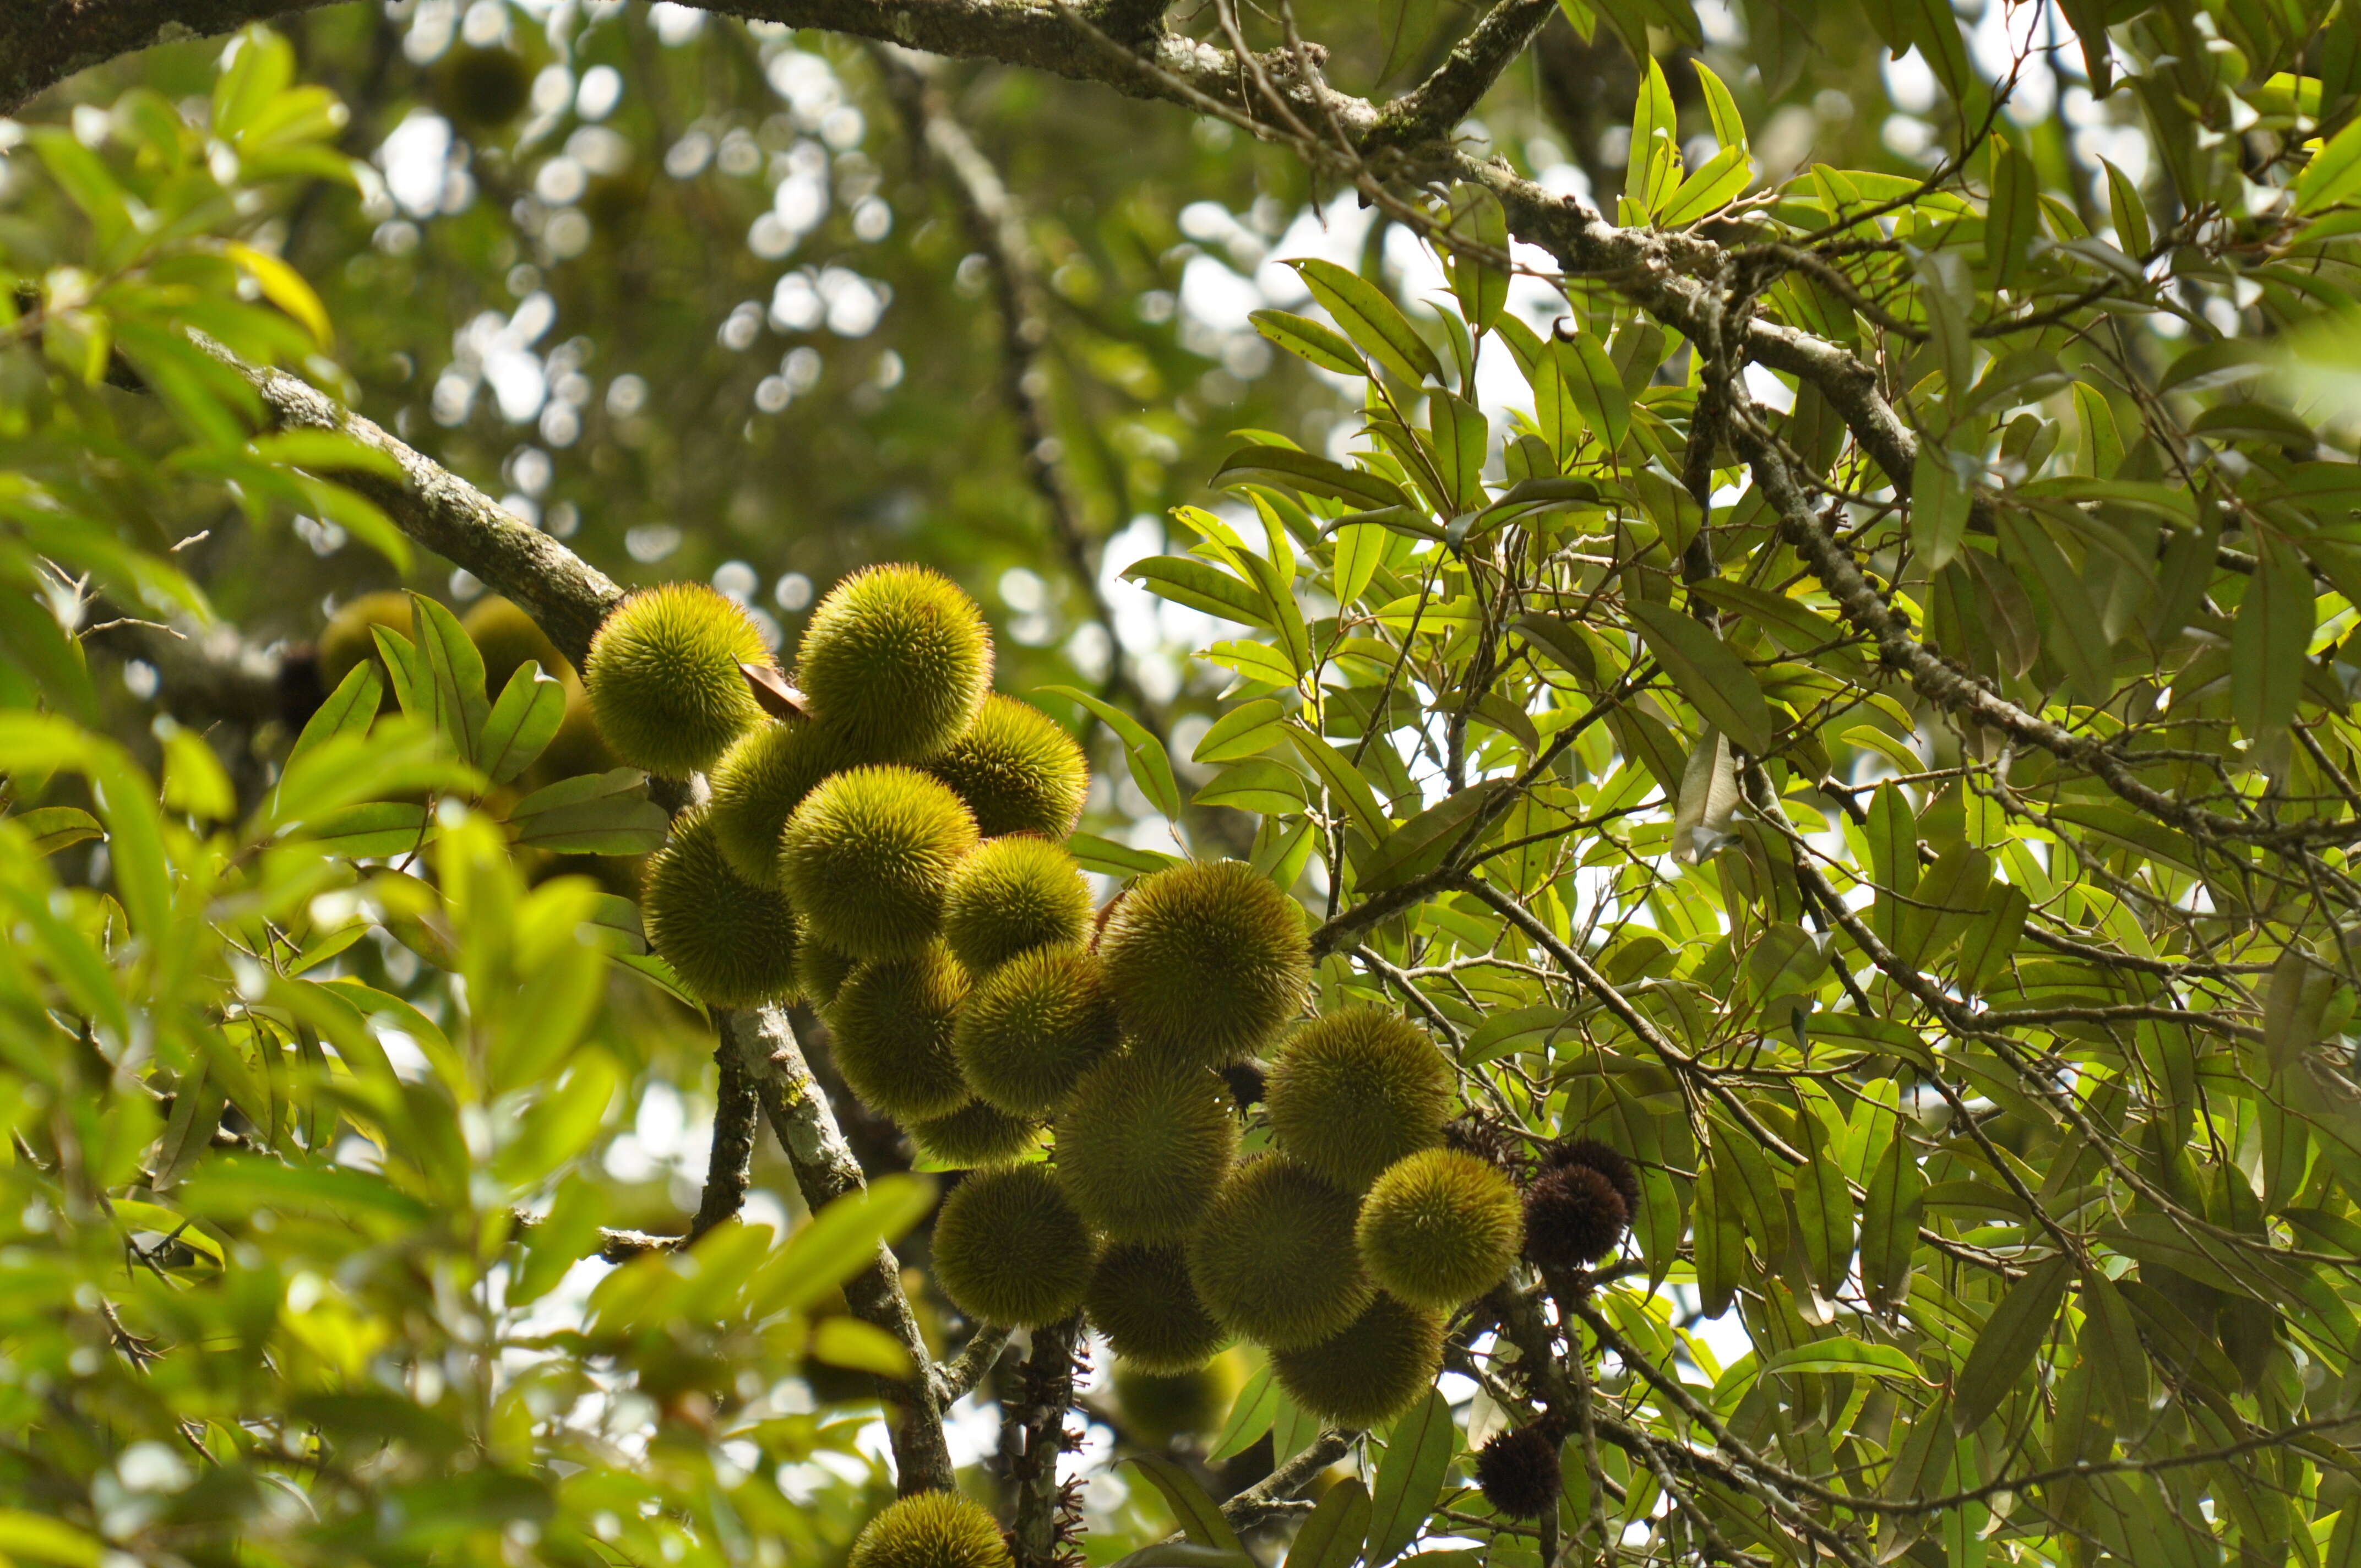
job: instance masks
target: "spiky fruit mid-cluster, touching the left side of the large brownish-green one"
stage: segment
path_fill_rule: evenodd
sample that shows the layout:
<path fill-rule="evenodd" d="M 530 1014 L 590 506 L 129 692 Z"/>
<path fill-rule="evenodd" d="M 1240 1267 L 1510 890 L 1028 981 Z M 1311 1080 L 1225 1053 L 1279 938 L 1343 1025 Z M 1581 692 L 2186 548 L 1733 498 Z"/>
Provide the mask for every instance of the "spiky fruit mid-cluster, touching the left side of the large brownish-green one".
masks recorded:
<path fill-rule="evenodd" d="M 992 971 L 959 1011 L 959 1067 L 1001 1110 L 1046 1117 L 1114 1048 L 1098 959 L 1079 942 L 1034 947 Z"/>

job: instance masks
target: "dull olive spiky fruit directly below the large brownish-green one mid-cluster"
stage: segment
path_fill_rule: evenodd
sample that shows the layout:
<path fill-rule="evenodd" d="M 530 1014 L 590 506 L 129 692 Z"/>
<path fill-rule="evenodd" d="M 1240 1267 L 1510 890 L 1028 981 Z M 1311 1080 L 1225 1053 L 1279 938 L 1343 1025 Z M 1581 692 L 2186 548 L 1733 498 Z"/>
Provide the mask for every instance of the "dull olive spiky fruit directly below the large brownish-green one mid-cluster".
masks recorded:
<path fill-rule="evenodd" d="M 1058 1181 L 1117 1242 L 1188 1235 L 1237 1159 L 1230 1086 L 1138 1051 L 1098 1063 L 1058 1117 Z"/>

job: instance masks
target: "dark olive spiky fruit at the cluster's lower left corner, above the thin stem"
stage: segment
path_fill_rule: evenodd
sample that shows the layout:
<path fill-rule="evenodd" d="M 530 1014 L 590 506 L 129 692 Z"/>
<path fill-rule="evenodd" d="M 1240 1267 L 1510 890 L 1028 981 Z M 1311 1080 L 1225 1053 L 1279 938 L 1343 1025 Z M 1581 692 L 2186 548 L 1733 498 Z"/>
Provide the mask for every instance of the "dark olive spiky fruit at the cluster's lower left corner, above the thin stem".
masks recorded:
<path fill-rule="evenodd" d="M 1036 1329 L 1081 1306 L 1091 1233 L 1048 1167 L 977 1171 L 935 1219 L 935 1278 L 970 1318 Z"/>

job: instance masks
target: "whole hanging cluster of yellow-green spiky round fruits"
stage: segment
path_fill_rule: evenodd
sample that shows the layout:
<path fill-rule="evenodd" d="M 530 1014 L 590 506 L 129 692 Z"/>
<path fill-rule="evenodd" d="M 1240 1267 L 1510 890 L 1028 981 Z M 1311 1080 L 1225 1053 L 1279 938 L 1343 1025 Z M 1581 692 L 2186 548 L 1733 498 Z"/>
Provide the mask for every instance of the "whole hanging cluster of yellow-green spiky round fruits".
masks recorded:
<path fill-rule="evenodd" d="M 800 994 L 845 1084 L 968 1169 L 944 1294 L 1008 1327 L 1084 1311 L 1140 1377 L 1254 1341 L 1350 1426 L 1433 1386 L 1445 1315 L 1525 1247 L 1516 1183 L 1445 1143 L 1435 1044 L 1367 1006 L 1301 1023 L 1303 912 L 1249 864 L 1152 871 L 1093 919 L 1062 845 L 1081 753 L 992 694 L 982 616 L 933 571 L 822 600 L 805 713 L 763 716 L 765 671 L 704 588 L 635 595 L 593 642 L 609 744 L 713 784 L 649 869 L 649 940 L 715 1004 Z M 1249 1063 L 1270 1148 L 1242 1162 Z"/>

